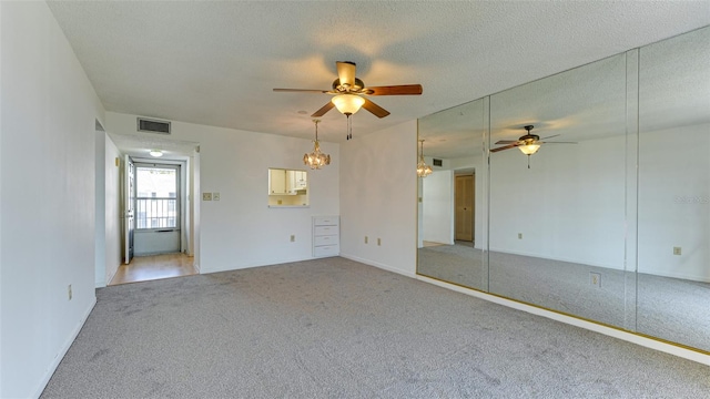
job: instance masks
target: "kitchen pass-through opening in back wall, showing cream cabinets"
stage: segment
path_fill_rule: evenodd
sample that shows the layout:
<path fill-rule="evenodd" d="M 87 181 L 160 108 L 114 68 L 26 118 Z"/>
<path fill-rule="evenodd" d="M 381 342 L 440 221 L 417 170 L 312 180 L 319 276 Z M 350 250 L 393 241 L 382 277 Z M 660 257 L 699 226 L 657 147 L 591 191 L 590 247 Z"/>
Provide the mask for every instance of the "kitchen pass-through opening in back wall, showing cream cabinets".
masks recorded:
<path fill-rule="evenodd" d="M 268 206 L 308 206 L 307 172 L 268 168 Z"/>

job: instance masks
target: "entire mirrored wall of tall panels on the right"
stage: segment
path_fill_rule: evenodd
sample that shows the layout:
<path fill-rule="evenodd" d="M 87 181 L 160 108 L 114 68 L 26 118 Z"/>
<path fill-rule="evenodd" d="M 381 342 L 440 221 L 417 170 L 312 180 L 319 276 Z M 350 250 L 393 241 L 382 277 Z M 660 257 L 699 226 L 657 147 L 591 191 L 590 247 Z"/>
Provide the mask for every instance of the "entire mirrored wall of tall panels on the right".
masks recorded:
<path fill-rule="evenodd" d="M 419 120 L 443 167 L 419 178 L 417 273 L 709 351 L 709 43 L 704 28 Z M 457 171 L 475 174 L 469 246 L 430 239 L 456 223 Z"/>

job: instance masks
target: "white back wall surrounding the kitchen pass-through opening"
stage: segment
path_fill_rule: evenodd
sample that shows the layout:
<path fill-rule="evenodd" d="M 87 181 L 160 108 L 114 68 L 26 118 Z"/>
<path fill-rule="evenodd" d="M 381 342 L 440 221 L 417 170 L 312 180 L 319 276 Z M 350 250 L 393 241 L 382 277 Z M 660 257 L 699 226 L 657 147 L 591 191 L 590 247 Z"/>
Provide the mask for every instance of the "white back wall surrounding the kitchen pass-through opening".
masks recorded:
<path fill-rule="evenodd" d="M 136 134 L 136 115 L 106 113 L 106 131 Z M 172 122 L 172 139 L 200 143 L 199 187 L 221 194 L 200 201 L 202 273 L 313 258 L 314 215 L 339 213 L 338 145 L 321 143 L 331 165 L 308 171 L 310 203 L 303 208 L 270 208 L 268 167 L 303 170 L 311 140 Z M 201 195 L 197 195 L 201 200 Z M 291 235 L 296 236 L 291 243 Z"/>

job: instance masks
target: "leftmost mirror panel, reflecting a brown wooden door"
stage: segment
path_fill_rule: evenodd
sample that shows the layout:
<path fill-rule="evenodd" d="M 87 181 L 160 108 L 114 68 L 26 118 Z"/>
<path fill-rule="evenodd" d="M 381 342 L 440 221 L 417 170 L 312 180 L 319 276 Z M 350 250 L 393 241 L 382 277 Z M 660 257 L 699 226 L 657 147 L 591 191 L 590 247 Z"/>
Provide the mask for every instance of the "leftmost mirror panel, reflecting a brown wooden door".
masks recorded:
<path fill-rule="evenodd" d="M 484 100 L 423 117 L 418 136 L 433 173 L 419 177 L 417 273 L 485 289 L 481 234 Z M 438 162 L 434 162 L 438 160 Z M 477 190 L 478 188 L 478 190 Z"/>

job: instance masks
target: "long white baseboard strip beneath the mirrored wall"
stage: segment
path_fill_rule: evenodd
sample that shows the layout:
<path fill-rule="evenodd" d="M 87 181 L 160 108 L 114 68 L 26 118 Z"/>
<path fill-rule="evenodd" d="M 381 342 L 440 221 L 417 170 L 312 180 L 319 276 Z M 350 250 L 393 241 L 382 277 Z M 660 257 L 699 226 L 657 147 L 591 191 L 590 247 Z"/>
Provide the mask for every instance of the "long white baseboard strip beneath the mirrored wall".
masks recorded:
<path fill-rule="evenodd" d="M 518 310 L 523 310 L 523 311 L 527 311 L 529 314 L 532 315 L 537 315 L 537 316 L 542 316 L 542 317 L 547 317 L 549 319 L 552 320 L 557 320 L 560 323 L 565 323 L 568 325 L 572 325 L 576 327 L 580 327 L 584 329 L 588 329 L 590 331 L 595 331 L 595 332 L 599 332 L 599 334 L 604 334 L 606 336 L 610 336 L 613 338 L 618 338 L 631 344 L 636 344 L 636 345 L 640 345 L 642 347 L 647 347 L 650 349 L 655 349 L 655 350 L 659 350 L 666 354 L 670 354 L 670 355 L 674 355 L 688 360 L 692 360 L 692 361 L 697 361 L 699 364 L 706 365 L 706 366 L 710 366 L 710 355 L 706 355 L 706 354 L 701 354 L 699 351 L 694 351 L 692 349 L 686 349 L 683 347 L 679 347 L 677 345 L 672 345 L 672 344 L 668 344 L 668 342 L 663 342 L 663 341 L 659 341 L 652 338 L 648 338 L 645 336 L 640 336 L 633 332 L 628 332 L 628 331 L 623 331 L 620 329 L 616 329 L 612 327 L 607 327 L 600 324 L 596 324 L 592 321 L 588 321 L 588 320 L 584 320 L 584 319 L 579 319 L 576 317 L 571 317 L 571 316 L 567 316 L 567 315 L 562 315 L 562 314 L 558 314 L 556 311 L 551 311 L 551 310 L 546 310 L 536 306 L 530 306 L 530 305 L 526 305 L 519 301 L 515 301 L 515 300 L 510 300 L 510 299 L 506 299 L 506 298 L 501 298 L 495 295 L 489 295 L 486 293 L 481 293 L 481 291 L 477 291 L 474 289 L 468 289 L 468 288 L 464 288 L 454 284 L 448 284 L 448 283 L 444 283 L 434 278 L 429 278 L 429 277 L 425 277 L 425 276 L 420 276 L 417 275 L 415 278 L 423 280 L 423 282 L 427 282 L 434 285 L 437 285 L 439 287 L 444 287 L 444 288 L 448 288 L 452 290 L 455 290 L 457 293 L 462 293 L 462 294 L 466 294 L 466 295 L 470 295 L 480 299 L 485 299 L 498 305 L 503 305 L 503 306 L 507 306 L 514 309 L 518 309 Z"/>

